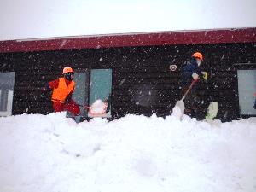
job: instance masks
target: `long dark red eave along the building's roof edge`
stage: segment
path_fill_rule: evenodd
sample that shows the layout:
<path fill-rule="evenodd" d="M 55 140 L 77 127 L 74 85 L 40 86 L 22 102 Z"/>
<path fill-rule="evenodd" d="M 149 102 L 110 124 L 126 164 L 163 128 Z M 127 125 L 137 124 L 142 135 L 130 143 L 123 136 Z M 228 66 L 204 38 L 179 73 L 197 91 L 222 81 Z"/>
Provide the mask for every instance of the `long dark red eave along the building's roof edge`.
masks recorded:
<path fill-rule="evenodd" d="M 60 49 L 90 49 L 167 44 L 221 44 L 256 42 L 256 28 L 183 32 L 152 32 L 55 39 L 0 41 L 0 53 Z"/>

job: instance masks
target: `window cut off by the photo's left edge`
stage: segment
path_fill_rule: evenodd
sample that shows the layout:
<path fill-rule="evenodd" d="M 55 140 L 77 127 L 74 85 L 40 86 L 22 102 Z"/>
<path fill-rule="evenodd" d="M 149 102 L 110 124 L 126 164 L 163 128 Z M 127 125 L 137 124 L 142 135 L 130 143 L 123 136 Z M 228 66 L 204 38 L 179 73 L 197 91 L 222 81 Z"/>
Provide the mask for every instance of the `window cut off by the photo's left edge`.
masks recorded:
<path fill-rule="evenodd" d="M 0 116 L 12 114 L 15 72 L 0 73 Z"/>

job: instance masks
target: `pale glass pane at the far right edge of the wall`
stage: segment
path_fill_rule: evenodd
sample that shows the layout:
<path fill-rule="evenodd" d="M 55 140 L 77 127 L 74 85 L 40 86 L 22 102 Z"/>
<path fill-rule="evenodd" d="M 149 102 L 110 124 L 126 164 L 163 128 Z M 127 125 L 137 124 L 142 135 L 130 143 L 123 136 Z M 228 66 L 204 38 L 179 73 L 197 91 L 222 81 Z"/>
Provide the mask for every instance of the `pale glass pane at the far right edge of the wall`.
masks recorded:
<path fill-rule="evenodd" d="M 253 108 L 256 92 L 256 70 L 237 70 L 240 113 L 256 114 Z"/>

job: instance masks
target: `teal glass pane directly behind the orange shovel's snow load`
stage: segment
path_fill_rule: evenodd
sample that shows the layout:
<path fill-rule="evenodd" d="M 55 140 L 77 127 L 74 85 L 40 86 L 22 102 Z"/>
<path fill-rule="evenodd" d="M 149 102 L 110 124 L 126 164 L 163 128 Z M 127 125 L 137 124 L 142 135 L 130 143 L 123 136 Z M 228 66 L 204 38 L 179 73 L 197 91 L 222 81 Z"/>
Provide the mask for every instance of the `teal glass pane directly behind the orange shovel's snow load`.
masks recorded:
<path fill-rule="evenodd" d="M 110 114 L 110 96 L 112 90 L 112 69 L 93 69 L 90 73 L 90 105 L 97 99 L 108 102 Z M 106 101 L 108 99 L 108 101 Z"/>

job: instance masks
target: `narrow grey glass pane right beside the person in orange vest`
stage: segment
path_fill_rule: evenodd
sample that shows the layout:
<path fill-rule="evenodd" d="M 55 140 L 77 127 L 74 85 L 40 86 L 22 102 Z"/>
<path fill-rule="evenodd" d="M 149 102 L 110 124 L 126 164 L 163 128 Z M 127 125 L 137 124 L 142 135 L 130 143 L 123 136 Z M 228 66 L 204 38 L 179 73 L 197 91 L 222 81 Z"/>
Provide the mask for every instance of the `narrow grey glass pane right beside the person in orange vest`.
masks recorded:
<path fill-rule="evenodd" d="M 74 82 L 76 83 L 75 91 L 73 92 L 73 100 L 79 105 L 88 105 L 88 79 L 87 72 L 74 73 Z M 86 115 L 86 110 L 80 107 L 82 116 Z"/>

